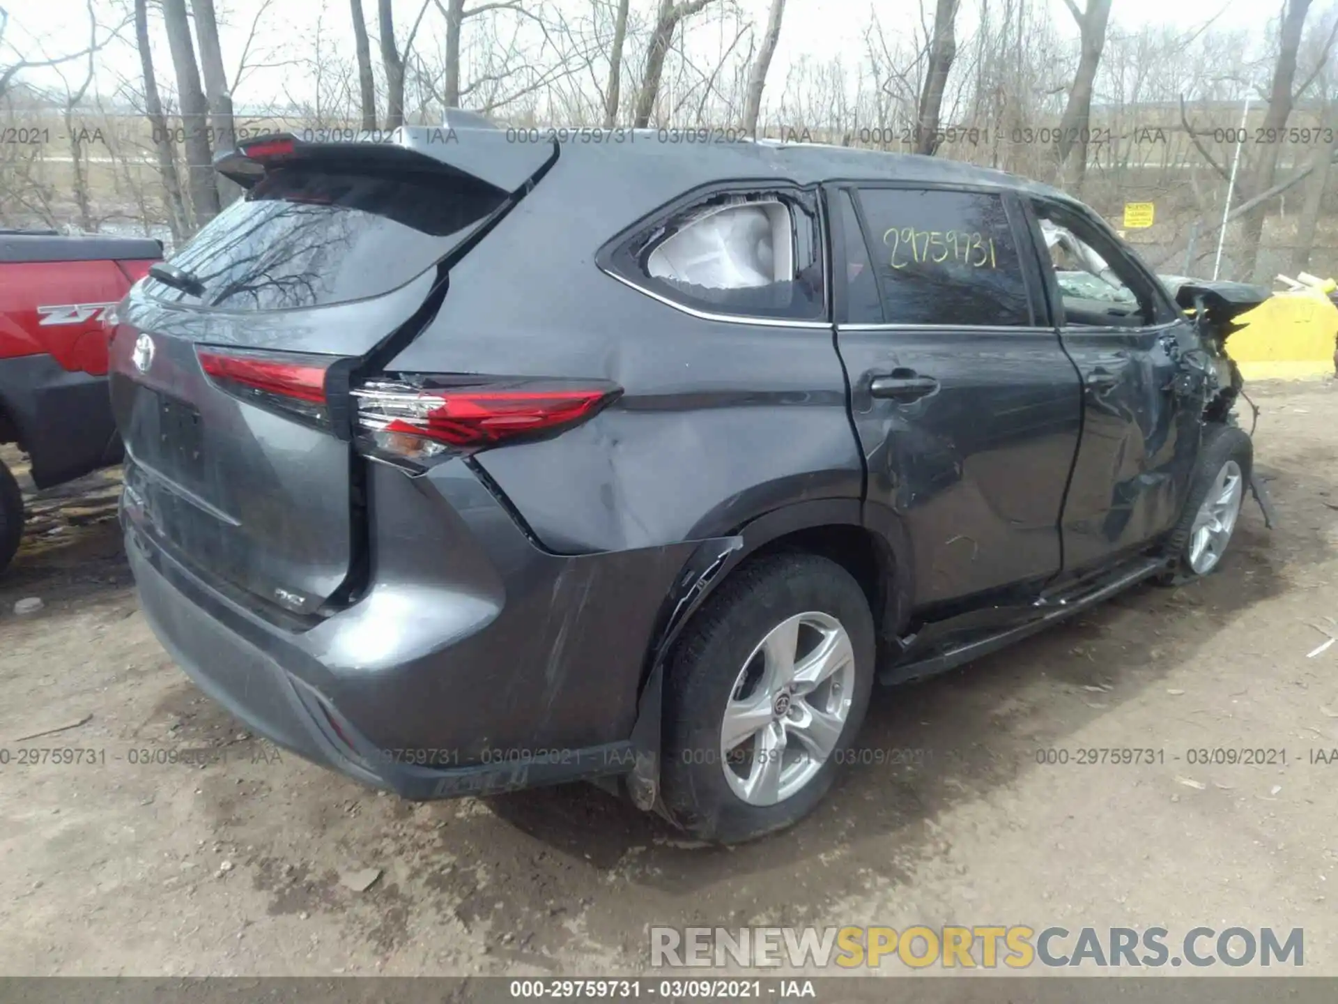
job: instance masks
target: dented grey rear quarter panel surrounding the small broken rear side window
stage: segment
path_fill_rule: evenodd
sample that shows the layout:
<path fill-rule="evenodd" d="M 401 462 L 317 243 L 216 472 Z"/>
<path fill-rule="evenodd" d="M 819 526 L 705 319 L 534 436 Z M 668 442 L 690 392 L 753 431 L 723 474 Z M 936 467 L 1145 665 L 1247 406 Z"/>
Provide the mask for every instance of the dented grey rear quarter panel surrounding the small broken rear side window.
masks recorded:
<path fill-rule="evenodd" d="M 478 458 L 554 552 L 709 538 L 780 505 L 859 498 L 862 465 L 830 324 L 704 320 L 595 264 L 611 237 L 694 187 L 760 178 L 765 189 L 804 177 L 765 147 L 719 158 L 617 154 L 563 149 L 455 265 L 436 319 L 387 368 L 624 388 L 615 404 L 555 440 Z"/>

